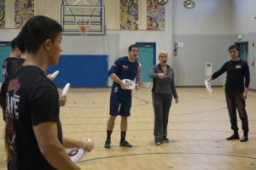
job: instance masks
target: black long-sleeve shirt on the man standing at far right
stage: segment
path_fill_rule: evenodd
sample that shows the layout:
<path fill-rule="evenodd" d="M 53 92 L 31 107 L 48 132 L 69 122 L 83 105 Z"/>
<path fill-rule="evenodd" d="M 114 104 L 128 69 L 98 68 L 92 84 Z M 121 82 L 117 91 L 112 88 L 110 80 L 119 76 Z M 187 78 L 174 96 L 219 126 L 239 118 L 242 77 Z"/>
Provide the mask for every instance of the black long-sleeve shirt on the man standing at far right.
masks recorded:
<path fill-rule="evenodd" d="M 227 61 L 224 65 L 212 75 L 215 79 L 227 71 L 225 83 L 226 89 L 248 88 L 250 83 L 250 71 L 246 61 L 239 59 L 238 61 Z M 245 82 L 244 82 L 245 79 Z"/>

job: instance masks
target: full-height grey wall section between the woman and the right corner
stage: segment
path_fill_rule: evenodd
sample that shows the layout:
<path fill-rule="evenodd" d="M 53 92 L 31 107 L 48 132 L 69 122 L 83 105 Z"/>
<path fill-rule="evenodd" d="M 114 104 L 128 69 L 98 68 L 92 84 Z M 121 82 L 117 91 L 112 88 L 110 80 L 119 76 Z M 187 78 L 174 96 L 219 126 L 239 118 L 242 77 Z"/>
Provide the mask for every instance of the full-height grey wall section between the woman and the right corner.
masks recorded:
<path fill-rule="evenodd" d="M 231 43 L 231 0 L 196 0 L 195 8 L 186 9 L 183 1 L 174 4 L 173 41 L 183 42 L 173 57 L 177 86 L 202 86 L 205 63 L 212 63 L 212 73 L 229 59 Z M 223 84 L 223 77 L 212 85 Z"/>

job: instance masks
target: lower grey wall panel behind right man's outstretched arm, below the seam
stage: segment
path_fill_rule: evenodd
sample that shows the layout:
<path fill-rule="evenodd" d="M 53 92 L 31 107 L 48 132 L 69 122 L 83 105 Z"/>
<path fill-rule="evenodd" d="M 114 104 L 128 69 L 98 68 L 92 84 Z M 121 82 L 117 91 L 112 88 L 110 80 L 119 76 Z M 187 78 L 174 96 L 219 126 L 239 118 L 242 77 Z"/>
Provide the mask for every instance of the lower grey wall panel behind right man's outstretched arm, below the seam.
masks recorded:
<path fill-rule="evenodd" d="M 176 35 L 178 48 L 174 57 L 175 82 L 177 86 L 203 86 L 206 79 L 206 62 L 212 63 L 212 73 L 229 60 L 227 48 L 230 35 Z M 223 76 L 211 82 L 214 86 L 223 84 Z"/>

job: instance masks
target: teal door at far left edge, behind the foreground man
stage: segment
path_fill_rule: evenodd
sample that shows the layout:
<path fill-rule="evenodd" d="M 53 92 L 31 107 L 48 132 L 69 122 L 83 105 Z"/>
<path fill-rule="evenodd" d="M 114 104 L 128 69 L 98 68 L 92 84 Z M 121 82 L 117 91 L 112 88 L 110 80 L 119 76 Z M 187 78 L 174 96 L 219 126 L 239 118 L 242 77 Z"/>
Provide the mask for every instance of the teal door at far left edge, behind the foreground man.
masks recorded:
<path fill-rule="evenodd" d="M 6 59 L 7 57 L 9 57 L 9 54 L 11 54 L 11 46 L 10 46 L 10 42 L 0 42 L 0 82 L 3 82 L 3 60 Z"/>

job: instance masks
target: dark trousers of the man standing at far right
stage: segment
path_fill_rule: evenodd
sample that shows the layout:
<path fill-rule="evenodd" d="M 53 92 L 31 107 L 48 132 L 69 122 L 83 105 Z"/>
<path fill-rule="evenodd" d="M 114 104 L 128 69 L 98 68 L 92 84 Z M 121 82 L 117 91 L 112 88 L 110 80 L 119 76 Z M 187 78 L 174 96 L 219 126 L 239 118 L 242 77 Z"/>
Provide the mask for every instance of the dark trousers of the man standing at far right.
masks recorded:
<path fill-rule="evenodd" d="M 236 118 L 236 110 L 238 111 L 239 117 L 241 119 L 241 128 L 244 133 L 249 132 L 248 127 L 248 118 L 247 111 L 245 110 L 246 103 L 245 100 L 241 98 L 244 89 L 225 89 L 226 102 L 230 115 L 230 123 L 231 129 L 234 132 L 238 131 L 237 127 L 237 118 Z"/>

